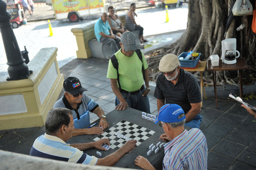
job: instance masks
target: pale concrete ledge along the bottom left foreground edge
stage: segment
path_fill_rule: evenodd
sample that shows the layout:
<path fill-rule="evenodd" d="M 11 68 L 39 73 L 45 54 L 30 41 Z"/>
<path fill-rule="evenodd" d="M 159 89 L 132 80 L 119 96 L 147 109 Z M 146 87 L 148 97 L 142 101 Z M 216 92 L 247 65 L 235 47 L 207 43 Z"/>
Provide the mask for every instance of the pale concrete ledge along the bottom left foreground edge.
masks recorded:
<path fill-rule="evenodd" d="M 132 170 L 131 168 L 109 167 L 109 166 L 89 166 L 65 161 L 57 161 L 46 158 L 39 158 L 20 153 L 0 150 L 0 169 L 3 170 Z"/>

